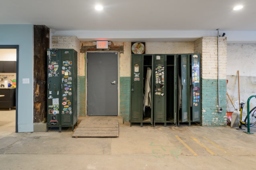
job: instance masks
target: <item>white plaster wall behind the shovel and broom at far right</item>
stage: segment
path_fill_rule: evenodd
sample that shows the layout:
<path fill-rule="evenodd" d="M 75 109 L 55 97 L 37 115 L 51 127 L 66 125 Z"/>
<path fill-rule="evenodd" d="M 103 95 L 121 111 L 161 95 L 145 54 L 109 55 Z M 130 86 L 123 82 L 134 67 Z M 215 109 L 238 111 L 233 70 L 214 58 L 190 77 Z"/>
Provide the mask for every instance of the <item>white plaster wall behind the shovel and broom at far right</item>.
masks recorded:
<path fill-rule="evenodd" d="M 239 108 L 238 96 L 238 73 L 240 84 L 240 102 L 244 102 L 243 117 L 247 114 L 247 100 L 250 96 L 256 95 L 256 44 L 227 44 L 227 92 Z M 250 100 L 250 108 L 256 106 L 256 99 Z M 227 98 L 227 112 L 235 109 Z"/>

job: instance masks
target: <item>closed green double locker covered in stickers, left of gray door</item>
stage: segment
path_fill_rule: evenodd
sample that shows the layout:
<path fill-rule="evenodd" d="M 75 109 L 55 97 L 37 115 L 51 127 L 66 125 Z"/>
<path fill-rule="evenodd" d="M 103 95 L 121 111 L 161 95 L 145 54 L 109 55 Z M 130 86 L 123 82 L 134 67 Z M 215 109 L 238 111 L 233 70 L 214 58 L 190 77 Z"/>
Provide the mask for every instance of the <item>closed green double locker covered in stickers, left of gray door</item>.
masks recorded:
<path fill-rule="evenodd" d="M 47 130 L 72 127 L 77 122 L 77 52 L 73 49 L 47 51 Z"/>

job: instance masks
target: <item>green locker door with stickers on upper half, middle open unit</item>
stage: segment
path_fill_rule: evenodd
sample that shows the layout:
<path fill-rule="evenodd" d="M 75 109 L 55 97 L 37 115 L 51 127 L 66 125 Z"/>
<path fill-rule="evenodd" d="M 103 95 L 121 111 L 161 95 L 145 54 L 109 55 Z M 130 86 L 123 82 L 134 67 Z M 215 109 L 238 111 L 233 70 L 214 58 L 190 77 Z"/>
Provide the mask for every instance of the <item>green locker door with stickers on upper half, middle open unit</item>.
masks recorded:
<path fill-rule="evenodd" d="M 165 55 L 154 55 L 154 110 L 155 122 L 165 121 Z M 152 83 L 153 84 L 153 83 Z"/>

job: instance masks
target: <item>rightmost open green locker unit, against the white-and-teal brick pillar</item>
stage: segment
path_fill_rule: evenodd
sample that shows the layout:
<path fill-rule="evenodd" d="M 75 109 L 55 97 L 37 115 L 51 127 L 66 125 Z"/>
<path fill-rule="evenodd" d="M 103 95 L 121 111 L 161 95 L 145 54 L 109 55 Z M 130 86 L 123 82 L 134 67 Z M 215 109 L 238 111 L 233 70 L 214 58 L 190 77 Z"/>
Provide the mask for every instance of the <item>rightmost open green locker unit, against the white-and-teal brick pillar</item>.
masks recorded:
<path fill-rule="evenodd" d="M 200 55 L 178 54 L 178 126 L 180 123 L 200 122 Z"/>

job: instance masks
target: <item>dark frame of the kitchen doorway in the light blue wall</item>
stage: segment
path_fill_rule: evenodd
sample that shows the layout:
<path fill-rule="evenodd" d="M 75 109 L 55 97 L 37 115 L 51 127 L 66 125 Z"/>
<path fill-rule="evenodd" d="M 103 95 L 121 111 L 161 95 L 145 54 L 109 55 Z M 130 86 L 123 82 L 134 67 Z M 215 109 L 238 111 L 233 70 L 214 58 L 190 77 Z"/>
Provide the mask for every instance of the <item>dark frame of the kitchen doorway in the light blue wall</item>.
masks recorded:
<path fill-rule="evenodd" d="M 19 45 L 0 45 L 0 49 L 16 49 L 16 114 L 15 114 L 15 132 L 18 133 L 18 52 Z"/>

